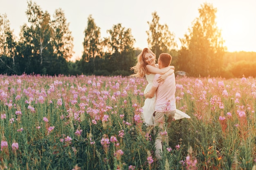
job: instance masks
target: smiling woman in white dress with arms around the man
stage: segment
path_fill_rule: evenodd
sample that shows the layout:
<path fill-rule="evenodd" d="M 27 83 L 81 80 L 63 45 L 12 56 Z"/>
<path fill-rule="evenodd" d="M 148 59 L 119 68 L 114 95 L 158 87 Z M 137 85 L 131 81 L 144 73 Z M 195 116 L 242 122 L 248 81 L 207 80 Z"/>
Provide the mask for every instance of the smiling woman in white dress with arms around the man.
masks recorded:
<path fill-rule="evenodd" d="M 135 77 L 144 77 L 146 76 L 146 79 L 148 81 L 148 85 L 146 86 L 144 90 L 144 94 L 146 94 L 148 91 L 150 91 L 150 88 L 153 83 L 153 79 L 155 77 L 155 74 L 162 74 L 159 79 L 157 80 L 158 83 L 161 83 L 166 79 L 168 75 L 171 75 L 174 73 L 174 66 L 168 66 L 166 68 L 159 69 L 158 65 L 155 64 L 155 54 L 148 48 L 144 48 L 142 52 L 137 57 L 138 62 L 136 66 L 133 66 L 131 70 L 134 70 L 135 74 L 132 76 Z M 153 113 L 155 111 L 155 102 L 156 97 L 152 98 L 146 98 L 144 102 L 143 109 L 143 119 L 144 122 L 148 125 L 153 125 Z M 190 118 L 189 115 L 186 113 L 176 109 L 175 117 L 174 119 L 182 119 L 182 118 Z"/>

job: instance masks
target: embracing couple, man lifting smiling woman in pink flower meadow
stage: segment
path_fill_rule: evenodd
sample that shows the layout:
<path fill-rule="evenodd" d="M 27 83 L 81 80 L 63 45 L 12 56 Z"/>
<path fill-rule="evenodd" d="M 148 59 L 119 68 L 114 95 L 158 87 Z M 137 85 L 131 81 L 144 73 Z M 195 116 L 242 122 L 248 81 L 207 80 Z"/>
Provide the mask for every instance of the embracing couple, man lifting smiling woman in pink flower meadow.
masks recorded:
<path fill-rule="evenodd" d="M 176 85 L 174 67 L 170 66 L 171 55 L 168 53 L 160 54 L 158 64 L 155 64 L 155 60 L 155 54 L 150 49 L 144 48 L 138 55 L 136 66 L 131 69 L 135 72 L 133 76 L 146 76 L 148 81 L 144 90 L 146 99 L 142 107 L 143 118 L 147 125 L 153 125 L 154 129 L 158 127 L 155 140 L 155 156 L 161 159 L 162 144 L 164 142 L 168 144 L 168 134 L 161 135 L 161 132 L 167 132 L 167 128 L 171 125 L 173 119 L 190 118 L 190 116 L 176 109 Z"/>

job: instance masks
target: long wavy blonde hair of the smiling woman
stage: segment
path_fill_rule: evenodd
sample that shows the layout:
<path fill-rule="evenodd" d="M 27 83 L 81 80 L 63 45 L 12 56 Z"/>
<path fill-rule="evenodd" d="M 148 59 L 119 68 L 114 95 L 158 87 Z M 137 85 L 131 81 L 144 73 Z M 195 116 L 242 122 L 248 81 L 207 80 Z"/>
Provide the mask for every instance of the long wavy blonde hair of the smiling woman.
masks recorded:
<path fill-rule="evenodd" d="M 148 48 L 144 48 L 141 53 L 137 56 L 137 64 L 135 66 L 133 66 L 131 68 L 131 70 L 134 70 L 134 73 L 133 75 L 130 75 L 130 76 L 134 76 L 134 77 L 144 77 L 147 73 L 147 68 L 146 68 L 146 61 L 145 61 L 145 54 L 146 53 L 152 53 L 154 59 L 155 59 L 155 54 Z M 155 60 L 154 60 L 155 61 Z"/>

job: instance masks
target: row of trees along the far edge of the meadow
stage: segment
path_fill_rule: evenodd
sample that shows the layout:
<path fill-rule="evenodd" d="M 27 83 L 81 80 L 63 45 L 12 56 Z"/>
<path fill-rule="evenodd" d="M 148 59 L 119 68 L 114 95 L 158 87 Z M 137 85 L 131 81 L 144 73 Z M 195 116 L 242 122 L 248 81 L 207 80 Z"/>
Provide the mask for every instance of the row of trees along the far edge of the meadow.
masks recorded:
<path fill-rule="evenodd" d="M 83 55 L 71 62 L 73 37 L 64 12 L 56 9 L 51 17 L 36 3 L 29 1 L 27 4 L 29 24 L 21 26 L 19 39 L 13 35 L 7 15 L 0 15 L 1 74 L 132 74 L 130 68 L 136 64 L 141 49 L 134 47 L 135 38 L 130 28 L 123 27 L 121 23 L 115 24 L 107 30 L 108 37 L 101 38 L 100 27 L 89 15 L 84 30 Z M 227 48 L 216 26 L 217 9 L 204 3 L 198 12 L 199 17 L 192 22 L 188 33 L 180 38 L 180 49 L 177 49 L 174 33 L 169 31 L 167 24 L 160 24 L 157 12 L 153 12 L 152 20 L 147 22 L 148 47 L 157 57 L 160 53 L 170 53 L 175 70 L 186 71 L 194 77 L 241 76 L 241 72 L 236 74 L 236 64 L 225 65 Z M 250 73 L 249 67 L 245 69 L 246 74 Z"/>

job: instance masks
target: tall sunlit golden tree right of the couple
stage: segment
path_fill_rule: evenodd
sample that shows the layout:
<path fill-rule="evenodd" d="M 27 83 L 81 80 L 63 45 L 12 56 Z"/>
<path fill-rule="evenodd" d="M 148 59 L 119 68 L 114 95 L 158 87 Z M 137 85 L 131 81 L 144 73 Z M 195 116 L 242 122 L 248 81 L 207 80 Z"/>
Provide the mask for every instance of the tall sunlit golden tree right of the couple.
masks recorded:
<path fill-rule="evenodd" d="M 226 48 L 216 26 L 217 9 L 204 3 L 198 11 L 200 16 L 181 40 L 180 69 L 195 77 L 218 76 L 222 72 Z"/>

